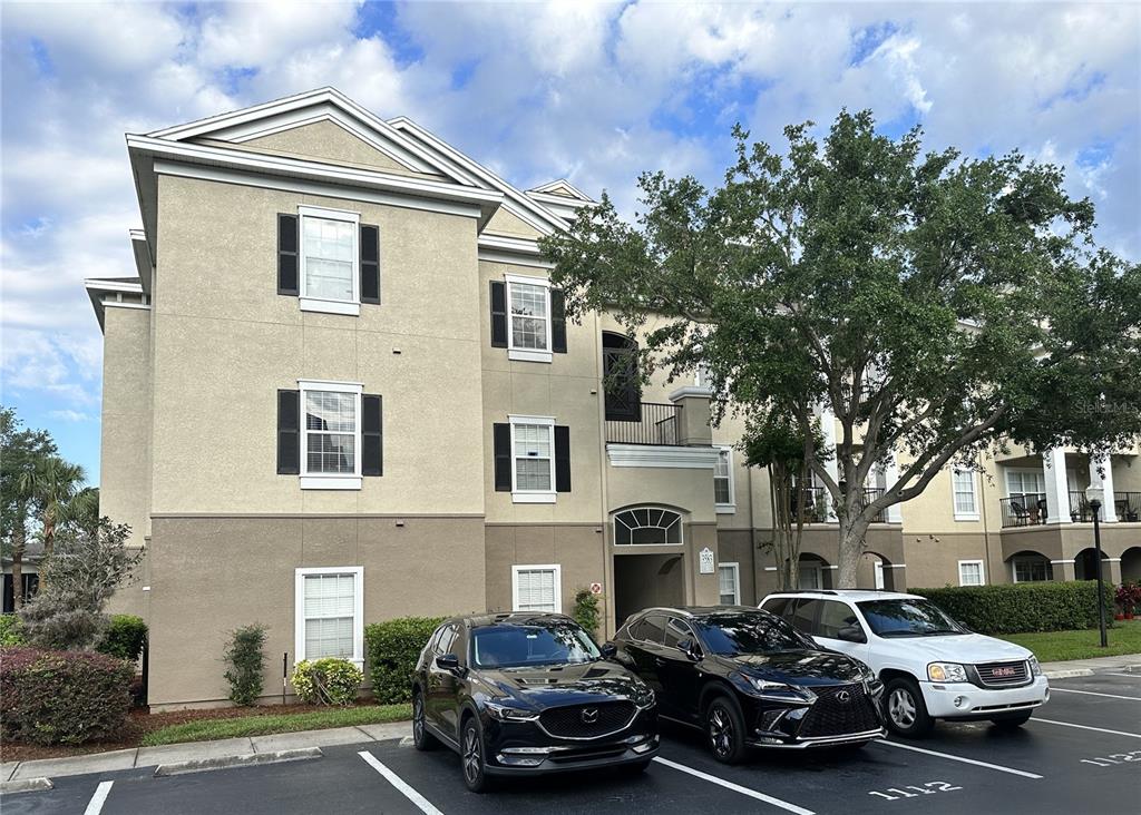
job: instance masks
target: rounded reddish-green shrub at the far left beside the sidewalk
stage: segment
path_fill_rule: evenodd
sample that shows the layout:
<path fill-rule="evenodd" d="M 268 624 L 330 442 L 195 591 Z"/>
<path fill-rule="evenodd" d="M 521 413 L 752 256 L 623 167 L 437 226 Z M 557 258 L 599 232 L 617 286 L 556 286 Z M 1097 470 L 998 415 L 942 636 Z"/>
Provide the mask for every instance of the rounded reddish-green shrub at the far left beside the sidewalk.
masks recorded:
<path fill-rule="evenodd" d="M 133 675 L 104 654 L 0 649 L 0 732 L 34 744 L 110 739 L 127 723 Z"/>

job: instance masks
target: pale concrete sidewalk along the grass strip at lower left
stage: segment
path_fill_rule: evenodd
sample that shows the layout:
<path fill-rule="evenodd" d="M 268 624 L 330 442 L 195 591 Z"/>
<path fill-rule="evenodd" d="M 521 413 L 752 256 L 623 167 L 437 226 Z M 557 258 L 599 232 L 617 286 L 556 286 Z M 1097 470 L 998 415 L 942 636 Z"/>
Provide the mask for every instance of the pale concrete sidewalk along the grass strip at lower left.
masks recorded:
<path fill-rule="evenodd" d="M 0 790 L 15 792 L 33 779 L 58 779 L 65 775 L 107 773 L 116 769 L 160 767 L 168 769 L 168 772 L 192 772 L 194 769 L 217 769 L 257 764 L 264 760 L 289 760 L 306 757 L 298 753 L 305 750 L 311 751 L 313 748 L 391 741 L 410 735 L 412 735 L 411 723 L 394 722 L 382 725 L 332 727 L 322 731 L 276 733 L 221 741 L 139 747 L 131 750 L 96 752 L 89 756 L 41 758 L 35 761 L 8 761 L 0 765 Z M 16 782 L 23 783 L 17 784 Z M 42 787 L 40 788 L 42 789 Z"/>

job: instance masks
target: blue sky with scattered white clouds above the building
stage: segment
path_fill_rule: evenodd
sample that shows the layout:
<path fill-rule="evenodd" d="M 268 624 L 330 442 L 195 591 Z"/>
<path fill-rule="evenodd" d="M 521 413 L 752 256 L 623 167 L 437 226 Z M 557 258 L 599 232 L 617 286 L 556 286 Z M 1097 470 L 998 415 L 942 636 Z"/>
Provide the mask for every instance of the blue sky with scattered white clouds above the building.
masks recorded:
<path fill-rule="evenodd" d="M 1062 164 L 1141 256 L 1133 3 L 5 2 L 0 402 L 98 482 L 102 337 L 84 277 L 132 274 L 124 132 L 331 84 L 516 185 L 634 207 L 642 170 L 715 181 L 729 129 L 872 108 L 932 148 Z"/>

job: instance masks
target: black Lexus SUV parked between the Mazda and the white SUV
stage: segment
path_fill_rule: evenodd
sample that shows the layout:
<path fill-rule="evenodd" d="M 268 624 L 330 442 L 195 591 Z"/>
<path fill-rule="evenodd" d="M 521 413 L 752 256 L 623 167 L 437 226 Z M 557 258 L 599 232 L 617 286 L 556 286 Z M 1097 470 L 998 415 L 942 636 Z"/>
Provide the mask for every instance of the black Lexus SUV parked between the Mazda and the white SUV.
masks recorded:
<path fill-rule="evenodd" d="M 654 688 L 659 716 L 704 730 L 719 761 L 748 747 L 863 747 L 884 735 L 872 670 L 767 611 L 648 609 L 614 644 Z"/>

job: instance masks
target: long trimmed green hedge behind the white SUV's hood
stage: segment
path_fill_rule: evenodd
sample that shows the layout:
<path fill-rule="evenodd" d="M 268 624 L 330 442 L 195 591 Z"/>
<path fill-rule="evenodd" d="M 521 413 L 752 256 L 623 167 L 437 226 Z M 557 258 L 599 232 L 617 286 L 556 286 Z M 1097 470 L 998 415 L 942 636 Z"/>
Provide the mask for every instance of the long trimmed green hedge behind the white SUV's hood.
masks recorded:
<path fill-rule="evenodd" d="M 1098 627 L 1098 582 L 1017 582 L 997 586 L 908 588 L 979 634 L 1068 631 Z M 1106 584 L 1107 619 L 1112 620 L 1114 588 Z"/>

